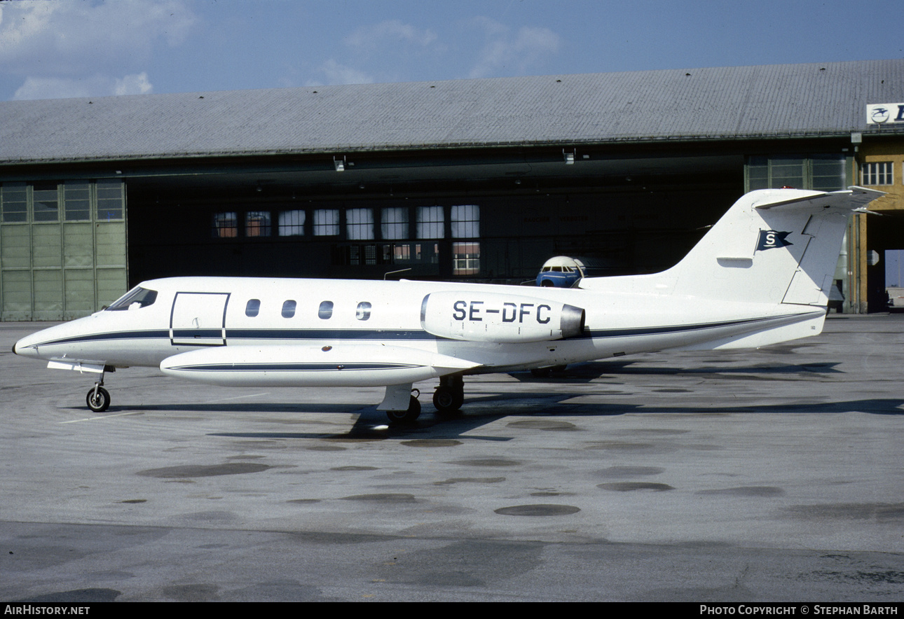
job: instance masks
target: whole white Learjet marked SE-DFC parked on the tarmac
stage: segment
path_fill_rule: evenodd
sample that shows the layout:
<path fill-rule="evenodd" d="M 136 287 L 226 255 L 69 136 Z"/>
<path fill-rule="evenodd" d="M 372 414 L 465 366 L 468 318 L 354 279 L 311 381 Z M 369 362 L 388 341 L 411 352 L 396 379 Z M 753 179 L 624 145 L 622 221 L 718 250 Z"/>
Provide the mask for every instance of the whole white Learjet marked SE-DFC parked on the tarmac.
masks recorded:
<path fill-rule="evenodd" d="M 570 288 L 155 279 L 96 314 L 25 337 L 13 352 L 99 374 L 87 397 L 94 411 L 110 403 L 105 372 L 148 366 L 231 387 L 383 386 L 378 408 L 413 421 L 420 380 L 439 379 L 433 403 L 451 413 L 469 374 L 816 335 L 848 216 L 880 195 L 749 192 L 674 267 L 584 277 Z"/>

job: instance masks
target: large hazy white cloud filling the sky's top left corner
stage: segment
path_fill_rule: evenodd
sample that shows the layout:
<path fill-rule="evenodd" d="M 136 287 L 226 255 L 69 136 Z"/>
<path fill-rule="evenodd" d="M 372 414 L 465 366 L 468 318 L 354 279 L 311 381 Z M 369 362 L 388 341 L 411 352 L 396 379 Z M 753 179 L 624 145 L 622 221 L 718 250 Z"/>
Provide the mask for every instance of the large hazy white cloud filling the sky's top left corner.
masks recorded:
<path fill-rule="evenodd" d="M 195 22 L 184 0 L 22 0 L 0 11 L 0 70 L 27 76 L 142 61 L 159 41 L 183 42 Z"/>

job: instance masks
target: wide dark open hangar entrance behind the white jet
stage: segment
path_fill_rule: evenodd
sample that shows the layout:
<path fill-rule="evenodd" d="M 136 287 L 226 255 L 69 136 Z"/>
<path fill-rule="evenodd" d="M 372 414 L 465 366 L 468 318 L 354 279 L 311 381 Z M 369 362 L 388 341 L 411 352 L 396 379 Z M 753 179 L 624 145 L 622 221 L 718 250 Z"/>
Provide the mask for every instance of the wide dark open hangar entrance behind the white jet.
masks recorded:
<path fill-rule="evenodd" d="M 744 192 L 744 163 L 712 145 L 176 162 L 128 174 L 129 280 L 517 284 L 561 254 L 601 275 L 654 272 Z"/>

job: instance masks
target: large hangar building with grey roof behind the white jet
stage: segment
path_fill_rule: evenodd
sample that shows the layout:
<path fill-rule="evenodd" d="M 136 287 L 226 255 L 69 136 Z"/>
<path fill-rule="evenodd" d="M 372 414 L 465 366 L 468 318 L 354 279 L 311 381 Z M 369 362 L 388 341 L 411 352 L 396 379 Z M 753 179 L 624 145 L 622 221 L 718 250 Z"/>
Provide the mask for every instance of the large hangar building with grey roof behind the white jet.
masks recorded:
<path fill-rule="evenodd" d="M 2 320 L 85 315 L 189 274 L 520 283 L 560 254 L 654 272 L 762 187 L 888 192 L 884 216 L 849 229 L 846 311 L 884 308 L 872 264 L 904 249 L 904 60 L 8 101 L 0 114 Z"/>

